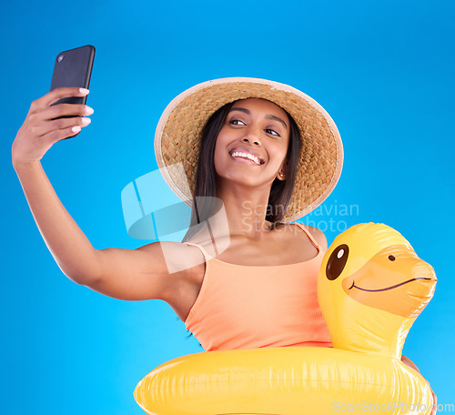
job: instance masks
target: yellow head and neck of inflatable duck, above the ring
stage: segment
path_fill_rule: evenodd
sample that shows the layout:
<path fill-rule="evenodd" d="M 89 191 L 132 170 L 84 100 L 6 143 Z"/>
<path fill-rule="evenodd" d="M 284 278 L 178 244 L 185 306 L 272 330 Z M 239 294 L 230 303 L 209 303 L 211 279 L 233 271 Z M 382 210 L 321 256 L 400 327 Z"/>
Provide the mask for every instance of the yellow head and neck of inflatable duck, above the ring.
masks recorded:
<path fill-rule="evenodd" d="M 330 245 L 318 277 L 333 347 L 399 359 L 436 280 L 395 229 L 375 223 L 349 228 Z"/>

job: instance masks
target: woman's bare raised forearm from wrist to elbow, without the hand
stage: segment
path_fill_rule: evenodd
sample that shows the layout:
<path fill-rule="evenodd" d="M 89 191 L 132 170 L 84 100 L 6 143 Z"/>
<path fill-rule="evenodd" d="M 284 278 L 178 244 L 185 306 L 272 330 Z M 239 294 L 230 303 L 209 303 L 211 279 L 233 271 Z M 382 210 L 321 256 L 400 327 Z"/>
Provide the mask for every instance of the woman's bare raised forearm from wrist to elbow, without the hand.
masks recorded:
<path fill-rule="evenodd" d="M 96 274 L 96 249 L 57 197 L 39 161 L 14 165 L 45 245 L 66 275 L 85 284 Z"/>

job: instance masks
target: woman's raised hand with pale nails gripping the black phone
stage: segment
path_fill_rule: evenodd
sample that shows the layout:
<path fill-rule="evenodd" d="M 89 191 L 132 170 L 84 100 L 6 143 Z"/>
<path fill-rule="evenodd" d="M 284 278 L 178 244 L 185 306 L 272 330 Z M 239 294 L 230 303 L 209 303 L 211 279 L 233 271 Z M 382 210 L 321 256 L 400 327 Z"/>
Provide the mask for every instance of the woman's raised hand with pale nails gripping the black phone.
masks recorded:
<path fill-rule="evenodd" d="M 59 87 L 33 101 L 11 148 L 13 166 L 41 160 L 56 141 L 75 136 L 81 127 L 90 124 L 90 118 L 83 117 L 93 114 L 93 109 L 89 106 L 82 104 L 51 106 L 61 98 L 86 96 L 87 93 L 87 90 L 81 92 L 76 86 Z M 58 118 L 60 116 L 75 117 Z"/>

